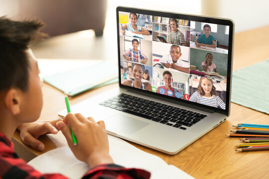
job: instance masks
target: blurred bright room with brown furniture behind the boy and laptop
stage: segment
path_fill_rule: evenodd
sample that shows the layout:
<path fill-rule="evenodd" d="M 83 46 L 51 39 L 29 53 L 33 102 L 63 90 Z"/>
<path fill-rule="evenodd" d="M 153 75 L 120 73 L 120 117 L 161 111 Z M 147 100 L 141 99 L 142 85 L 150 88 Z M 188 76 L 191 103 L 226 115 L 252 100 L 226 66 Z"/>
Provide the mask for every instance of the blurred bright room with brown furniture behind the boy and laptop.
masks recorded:
<path fill-rule="evenodd" d="M 0 16 L 47 24 L 37 58 L 117 60 L 117 6 L 230 18 L 235 33 L 269 25 L 269 0 L 0 0 Z"/>

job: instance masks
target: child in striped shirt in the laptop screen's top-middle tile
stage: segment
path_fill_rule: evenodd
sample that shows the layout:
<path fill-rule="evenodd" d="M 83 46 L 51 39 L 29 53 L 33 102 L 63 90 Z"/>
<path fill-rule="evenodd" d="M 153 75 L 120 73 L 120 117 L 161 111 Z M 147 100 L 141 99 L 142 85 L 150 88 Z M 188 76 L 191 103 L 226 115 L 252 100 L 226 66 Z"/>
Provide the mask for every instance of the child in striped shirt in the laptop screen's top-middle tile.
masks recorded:
<path fill-rule="evenodd" d="M 177 29 L 178 28 L 177 20 L 172 18 L 170 19 L 169 24 L 170 28 L 172 29 L 172 32 L 169 33 L 168 42 L 170 44 L 186 46 L 186 41 L 183 33 Z"/>

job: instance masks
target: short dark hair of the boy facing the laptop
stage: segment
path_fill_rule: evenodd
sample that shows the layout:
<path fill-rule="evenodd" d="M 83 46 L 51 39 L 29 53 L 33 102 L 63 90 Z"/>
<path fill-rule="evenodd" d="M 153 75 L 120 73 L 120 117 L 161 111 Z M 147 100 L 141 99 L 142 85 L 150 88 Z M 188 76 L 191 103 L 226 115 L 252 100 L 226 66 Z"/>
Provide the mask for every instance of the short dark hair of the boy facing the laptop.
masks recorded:
<path fill-rule="evenodd" d="M 26 50 L 46 34 L 40 20 L 13 21 L 0 17 L 0 92 L 17 88 L 28 90 L 30 64 Z"/>

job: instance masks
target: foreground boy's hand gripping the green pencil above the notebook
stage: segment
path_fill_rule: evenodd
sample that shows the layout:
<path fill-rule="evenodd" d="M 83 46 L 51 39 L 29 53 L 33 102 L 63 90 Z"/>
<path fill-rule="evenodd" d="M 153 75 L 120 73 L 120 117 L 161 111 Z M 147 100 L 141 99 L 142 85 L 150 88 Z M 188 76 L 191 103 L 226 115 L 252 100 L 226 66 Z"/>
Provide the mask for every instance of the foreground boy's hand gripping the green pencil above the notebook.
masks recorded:
<path fill-rule="evenodd" d="M 70 125 L 77 139 L 77 145 L 73 145 Z M 87 119 L 80 113 L 68 113 L 63 121 L 57 122 L 67 143 L 80 161 L 93 168 L 100 164 L 114 163 L 109 155 L 108 135 L 104 121 L 95 122 L 93 118 Z"/>

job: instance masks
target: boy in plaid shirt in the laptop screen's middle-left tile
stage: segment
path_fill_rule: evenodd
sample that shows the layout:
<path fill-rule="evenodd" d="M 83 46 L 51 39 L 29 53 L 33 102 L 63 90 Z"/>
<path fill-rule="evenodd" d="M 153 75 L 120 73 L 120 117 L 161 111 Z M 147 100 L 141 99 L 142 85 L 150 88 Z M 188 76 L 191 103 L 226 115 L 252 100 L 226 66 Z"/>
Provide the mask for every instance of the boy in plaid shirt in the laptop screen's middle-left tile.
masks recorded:
<path fill-rule="evenodd" d="M 133 49 L 129 49 L 127 52 L 124 53 L 124 58 L 128 61 L 138 62 L 138 59 L 142 59 L 141 63 L 144 64 L 147 61 L 146 56 L 138 50 L 138 40 L 132 40 Z"/>

